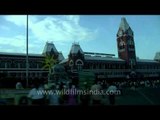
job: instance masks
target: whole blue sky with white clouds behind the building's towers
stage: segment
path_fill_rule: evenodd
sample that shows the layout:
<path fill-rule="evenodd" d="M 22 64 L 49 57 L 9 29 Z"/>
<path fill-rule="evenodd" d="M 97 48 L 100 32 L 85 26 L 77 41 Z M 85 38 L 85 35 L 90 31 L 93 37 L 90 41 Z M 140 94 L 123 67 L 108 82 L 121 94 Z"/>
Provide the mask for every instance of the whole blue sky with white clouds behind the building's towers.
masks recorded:
<path fill-rule="evenodd" d="M 160 15 L 29 15 L 29 53 L 41 54 L 46 42 L 68 57 L 72 43 L 84 52 L 115 54 L 116 34 L 125 17 L 134 32 L 136 56 L 160 52 Z M 26 15 L 0 15 L 0 52 L 26 53 Z"/>

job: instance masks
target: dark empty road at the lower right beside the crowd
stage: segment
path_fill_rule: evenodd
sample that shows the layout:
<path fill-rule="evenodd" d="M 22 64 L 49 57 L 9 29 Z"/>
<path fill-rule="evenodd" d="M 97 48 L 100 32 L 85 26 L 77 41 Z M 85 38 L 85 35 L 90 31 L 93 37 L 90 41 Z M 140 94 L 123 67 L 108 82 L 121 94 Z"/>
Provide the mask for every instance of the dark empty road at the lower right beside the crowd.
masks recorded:
<path fill-rule="evenodd" d="M 116 96 L 116 105 L 160 105 L 160 88 L 125 89 Z M 108 96 L 103 100 L 109 105 Z"/>

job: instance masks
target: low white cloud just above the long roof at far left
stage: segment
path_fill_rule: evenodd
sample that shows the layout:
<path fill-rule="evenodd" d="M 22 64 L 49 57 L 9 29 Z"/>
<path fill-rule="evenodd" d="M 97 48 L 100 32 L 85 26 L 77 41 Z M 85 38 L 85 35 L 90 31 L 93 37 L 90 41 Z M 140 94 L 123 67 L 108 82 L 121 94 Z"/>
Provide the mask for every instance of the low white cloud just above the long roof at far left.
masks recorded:
<path fill-rule="evenodd" d="M 41 54 L 45 44 L 29 41 L 28 52 Z M 0 37 L 0 52 L 26 53 L 26 37 Z"/>

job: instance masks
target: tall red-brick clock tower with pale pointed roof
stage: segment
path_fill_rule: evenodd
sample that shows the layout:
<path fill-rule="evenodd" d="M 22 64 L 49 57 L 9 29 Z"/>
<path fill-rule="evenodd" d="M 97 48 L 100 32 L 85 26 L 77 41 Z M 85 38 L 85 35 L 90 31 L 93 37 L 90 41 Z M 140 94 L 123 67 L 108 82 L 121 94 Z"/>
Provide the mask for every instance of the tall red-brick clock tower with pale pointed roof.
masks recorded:
<path fill-rule="evenodd" d="M 126 61 L 127 68 L 133 69 L 136 66 L 136 52 L 134 34 L 126 19 L 121 18 L 117 33 L 118 57 Z"/>

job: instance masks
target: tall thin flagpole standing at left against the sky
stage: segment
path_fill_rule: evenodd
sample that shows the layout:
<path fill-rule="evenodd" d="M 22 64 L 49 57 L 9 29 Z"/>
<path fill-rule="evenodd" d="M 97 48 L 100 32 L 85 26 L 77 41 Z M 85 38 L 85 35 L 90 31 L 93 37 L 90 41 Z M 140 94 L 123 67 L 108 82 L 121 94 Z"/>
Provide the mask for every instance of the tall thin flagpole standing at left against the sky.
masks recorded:
<path fill-rule="evenodd" d="M 27 15 L 27 24 L 26 24 L 26 87 L 28 87 L 28 15 Z"/>

